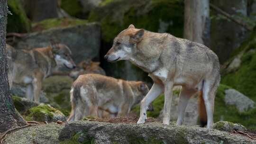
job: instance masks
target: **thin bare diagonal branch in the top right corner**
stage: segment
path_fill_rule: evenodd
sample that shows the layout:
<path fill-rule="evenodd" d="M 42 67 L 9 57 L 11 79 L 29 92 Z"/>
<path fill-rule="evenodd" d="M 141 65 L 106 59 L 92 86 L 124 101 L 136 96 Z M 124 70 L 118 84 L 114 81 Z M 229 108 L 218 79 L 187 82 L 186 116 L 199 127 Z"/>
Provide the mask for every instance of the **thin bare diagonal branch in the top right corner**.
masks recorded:
<path fill-rule="evenodd" d="M 225 16 L 226 18 L 229 18 L 230 20 L 232 20 L 233 22 L 237 23 L 238 25 L 240 25 L 242 27 L 245 27 L 247 30 L 249 30 L 249 31 L 253 30 L 253 27 L 248 26 L 247 23 L 244 23 L 241 20 L 238 20 L 236 18 L 232 18 L 232 16 L 230 16 L 227 12 L 223 11 L 222 9 L 219 9 L 218 7 L 214 6 L 211 3 L 210 3 L 210 8 L 212 8 L 215 11 L 217 11 L 218 13 L 220 13 L 223 16 Z"/>

